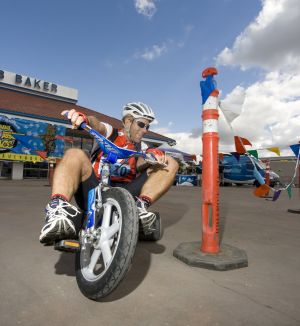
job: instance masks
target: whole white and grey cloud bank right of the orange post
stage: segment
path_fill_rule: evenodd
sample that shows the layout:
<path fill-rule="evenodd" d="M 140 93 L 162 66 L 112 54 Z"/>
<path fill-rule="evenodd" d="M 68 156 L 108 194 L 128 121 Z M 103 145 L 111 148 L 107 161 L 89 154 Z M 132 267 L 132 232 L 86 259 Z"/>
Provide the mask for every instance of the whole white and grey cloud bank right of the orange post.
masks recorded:
<path fill-rule="evenodd" d="M 261 81 L 244 89 L 243 112 L 232 126 L 253 148 L 288 148 L 298 143 L 300 130 L 300 3 L 264 0 L 262 5 L 233 47 L 217 56 L 217 63 L 265 70 Z M 235 99 L 238 94 L 228 94 L 233 106 Z M 230 147 L 230 133 L 229 128 L 220 128 L 221 146 Z M 288 149 L 283 153 L 292 155 Z"/>

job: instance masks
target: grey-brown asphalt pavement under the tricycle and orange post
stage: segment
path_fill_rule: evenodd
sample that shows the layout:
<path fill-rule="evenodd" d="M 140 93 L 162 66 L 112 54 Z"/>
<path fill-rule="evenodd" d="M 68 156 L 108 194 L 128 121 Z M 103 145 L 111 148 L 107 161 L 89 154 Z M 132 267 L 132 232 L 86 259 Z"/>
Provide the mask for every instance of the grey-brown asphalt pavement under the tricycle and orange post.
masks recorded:
<path fill-rule="evenodd" d="M 85 298 L 74 255 L 38 241 L 50 187 L 46 180 L 0 180 L 0 325 L 300 325 L 298 189 L 276 202 L 252 187 L 220 188 L 223 244 L 246 251 L 248 267 L 213 271 L 173 256 L 201 240 L 201 188 L 172 187 L 153 210 L 157 243 L 139 242 L 119 287 L 100 302 Z"/>

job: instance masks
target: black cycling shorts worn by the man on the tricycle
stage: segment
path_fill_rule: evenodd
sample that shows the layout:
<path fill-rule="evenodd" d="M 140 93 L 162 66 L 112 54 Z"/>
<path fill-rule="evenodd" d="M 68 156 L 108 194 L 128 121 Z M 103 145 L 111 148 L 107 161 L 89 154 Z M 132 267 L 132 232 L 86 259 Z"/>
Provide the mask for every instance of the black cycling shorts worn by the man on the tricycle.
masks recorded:
<path fill-rule="evenodd" d="M 148 178 L 147 172 L 142 172 L 137 178 L 132 182 L 112 182 L 112 187 L 121 187 L 128 190 L 133 198 L 138 197 L 141 194 L 144 183 Z M 82 210 L 87 210 L 88 203 L 88 194 L 89 191 L 93 188 L 96 188 L 99 184 L 99 181 L 93 171 L 92 174 L 85 181 L 79 184 L 79 187 L 74 194 L 74 198 L 78 207 Z"/>

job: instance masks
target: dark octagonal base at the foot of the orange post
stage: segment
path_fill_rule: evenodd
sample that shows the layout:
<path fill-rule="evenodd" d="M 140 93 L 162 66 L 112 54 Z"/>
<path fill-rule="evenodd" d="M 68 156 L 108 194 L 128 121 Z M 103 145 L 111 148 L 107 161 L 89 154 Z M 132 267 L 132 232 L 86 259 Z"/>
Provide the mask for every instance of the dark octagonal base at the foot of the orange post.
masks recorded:
<path fill-rule="evenodd" d="M 219 253 L 206 254 L 200 248 L 201 242 L 184 242 L 173 251 L 173 256 L 190 266 L 217 271 L 248 266 L 248 258 L 244 250 L 223 244 Z"/>

